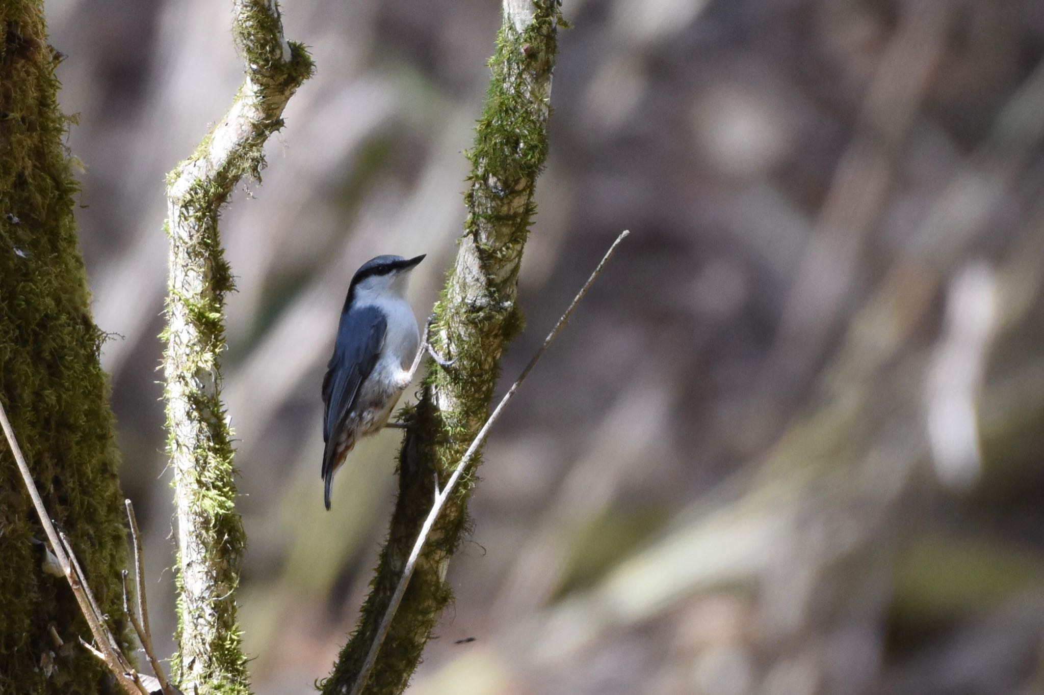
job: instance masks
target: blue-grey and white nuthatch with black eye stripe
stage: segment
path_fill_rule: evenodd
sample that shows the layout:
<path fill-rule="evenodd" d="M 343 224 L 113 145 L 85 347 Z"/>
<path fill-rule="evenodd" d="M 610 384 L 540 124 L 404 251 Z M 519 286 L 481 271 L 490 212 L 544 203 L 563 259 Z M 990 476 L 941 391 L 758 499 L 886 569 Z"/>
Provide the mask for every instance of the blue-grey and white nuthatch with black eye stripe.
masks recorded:
<path fill-rule="evenodd" d="M 406 301 L 410 271 L 423 259 L 424 255 L 379 255 L 362 264 L 348 287 L 333 355 L 323 378 L 323 499 L 327 510 L 333 474 L 360 438 L 385 426 L 427 347 L 427 339 L 421 345 L 417 317 Z"/>

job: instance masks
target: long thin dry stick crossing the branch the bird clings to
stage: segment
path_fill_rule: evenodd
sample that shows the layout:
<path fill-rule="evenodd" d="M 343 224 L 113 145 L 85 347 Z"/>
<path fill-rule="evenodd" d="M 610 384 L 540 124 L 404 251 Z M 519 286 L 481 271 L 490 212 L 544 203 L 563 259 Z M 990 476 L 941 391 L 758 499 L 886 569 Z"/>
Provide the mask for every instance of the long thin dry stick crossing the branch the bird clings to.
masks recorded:
<path fill-rule="evenodd" d="M 606 267 L 606 264 L 616 251 L 616 247 L 619 246 L 620 242 L 622 242 L 630 233 L 630 230 L 622 231 L 620 235 L 616 238 L 616 241 L 613 242 L 613 245 L 609 247 L 609 250 L 606 251 L 606 255 L 602 256 L 598 267 L 594 269 L 593 273 L 591 273 L 591 277 L 589 277 L 587 282 L 584 283 L 580 291 L 576 293 L 572 303 L 569 304 L 569 308 L 566 309 L 566 313 L 562 315 L 559 322 L 554 324 L 554 328 L 552 328 L 551 332 L 544 339 L 544 344 L 541 345 L 540 349 L 532 355 L 529 364 L 525 366 L 525 369 L 522 370 L 518 379 L 516 379 L 515 383 L 512 384 L 512 388 L 507 390 L 504 397 L 500 399 L 500 402 L 497 403 L 497 407 L 493 411 L 493 413 L 490 414 L 490 417 L 485 420 L 482 428 L 478 430 L 478 435 L 476 435 L 475 439 L 472 440 L 468 450 L 465 451 L 464 456 L 460 458 L 460 463 L 456 465 L 456 468 L 453 470 L 453 474 L 450 475 L 450 479 L 446 481 L 446 487 L 443 488 L 442 491 L 438 490 L 436 480 L 434 504 L 432 504 L 431 511 L 428 512 L 428 517 L 424 520 L 424 524 L 421 526 L 421 532 L 417 537 L 413 549 L 410 551 L 409 559 L 406 561 L 406 566 L 402 570 L 402 576 L 399 578 L 399 584 L 396 585 L 395 593 L 392 595 L 392 601 L 388 603 L 388 607 L 384 612 L 384 617 L 381 618 L 381 624 L 377 628 L 377 635 L 374 637 L 374 643 L 370 645 L 370 651 L 366 653 L 366 659 L 362 663 L 362 669 L 355 679 L 355 685 L 352 686 L 351 695 L 359 695 L 359 693 L 362 692 L 362 689 L 365 688 L 366 681 L 370 679 L 370 673 L 374 670 L 374 665 L 377 663 L 377 654 L 380 651 L 381 644 L 384 642 L 384 638 L 387 637 L 388 629 L 392 627 L 392 620 L 395 619 L 395 614 L 399 610 L 399 604 L 402 603 L 402 597 L 406 593 L 406 587 L 409 585 L 409 579 L 413 576 L 413 568 L 417 566 L 417 560 L 421 555 L 421 550 L 424 549 L 424 543 L 428 540 L 428 533 L 431 531 L 431 527 L 438 518 L 440 512 L 443 511 L 446 500 L 449 499 L 450 494 L 456 487 L 457 480 L 460 479 L 460 475 L 468 468 L 468 464 L 471 463 L 472 456 L 475 455 L 475 451 L 477 451 L 478 447 L 480 447 L 485 441 L 487 436 L 490 433 L 490 428 L 493 427 L 493 423 L 495 423 L 497 418 L 500 417 L 500 414 L 503 412 L 507 401 L 509 401 L 516 394 L 519 387 L 522 386 L 522 381 L 525 380 L 525 377 L 529 376 L 529 372 L 532 371 L 532 368 L 537 366 L 537 363 L 544 355 L 544 352 L 547 351 L 547 348 L 551 345 L 554 339 L 557 338 L 563 326 L 565 326 L 566 322 L 569 321 L 569 317 L 572 315 L 573 309 L 576 308 L 579 301 L 584 299 L 584 295 L 586 295 L 588 290 L 591 289 L 591 284 L 595 281 L 595 278 L 598 277 L 602 268 Z"/>

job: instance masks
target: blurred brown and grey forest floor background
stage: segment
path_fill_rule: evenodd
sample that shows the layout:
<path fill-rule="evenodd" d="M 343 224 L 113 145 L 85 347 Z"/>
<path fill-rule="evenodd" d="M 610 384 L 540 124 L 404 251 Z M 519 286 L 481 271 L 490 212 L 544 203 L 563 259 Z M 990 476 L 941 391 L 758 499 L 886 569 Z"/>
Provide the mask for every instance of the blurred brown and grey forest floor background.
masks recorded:
<path fill-rule="evenodd" d="M 414 693 L 1044 692 L 1044 4 L 565 0 L 514 376 Z M 240 81 L 230 6 L 49 0 L 123 486 L 173 630 L 164 175 Z M 326 513 L 319 382 L 356 267 L 461 229 L 494 0 L 287 0 L 318 66 L 223 217 L 259 693 L 352 628 L 400 435 Z M 501 386 L 501 389 L 504 387 Z M 457 644 L 459 640 L 474 641 Z M 172 650 L 169 640 L 161 651 Z"/>

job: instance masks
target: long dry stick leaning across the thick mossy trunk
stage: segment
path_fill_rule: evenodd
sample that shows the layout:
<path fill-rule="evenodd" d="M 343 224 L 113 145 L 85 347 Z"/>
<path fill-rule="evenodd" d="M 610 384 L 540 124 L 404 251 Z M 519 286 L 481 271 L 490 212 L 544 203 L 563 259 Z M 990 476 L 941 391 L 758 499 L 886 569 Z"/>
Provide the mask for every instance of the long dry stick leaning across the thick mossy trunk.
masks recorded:
<path fill-rule="evenodd" d="M 69 547 L 68 553 L 66 552 L 66 546 L 63 543 L 62 537 L 58 536 L 57 530 L 54 528 L 54 524 L 51 523 L 50 518 L 47 516 L 47 510 L 44 507 L 44 500 L 40 497 L 40 491 L 37 490 L 37 483 L 32 480 L 32 473 L 29 472 L 29 467 L 25 463 L 25 457 L 22 455 L 22 448 L 18 445 L 18 440 L 15 438 L 15 430 L 11 429 L 10 421 L 7 420 L 7 412 L 3 407 L 3 403 L 0 403 L 0 425 L 3 426 L 3 433 L 7 438 L 7 445 L 10 447 L 10 452 L 15 456 L 15 462 L 18 464 L 18 470 L 22 474 L 22 480 L 25 482 L 25 488 L 29 492 L 29 497 L 32 499 L 32 505 L 37 508 L 37 516 L 40 517 L 40 523 L 44 527 L 44 532 L 47 533 L 47 540 L 51 543 L 51 548 L 54 551 L 54 556 L 58 559 L 58 565 L 62 566 L 62 571 L 66 575 L 66 579 L 69 581 L 69 587 L 72 589 L 73 596 L 76 597 L 76 602 L 79 604 L 79 610 L 84 614 L 84 618 L 87 619 L 87 624 L 91 627 L 91 634 L 94 636 L 94 641 L 98 644 L 100 649 L 94 649 L 89 647 L 95 656 L 98 656 L 105 665 L 109 666 L 109 670 L 113 672 L 116 679 L 119 681 L 120 686 L 123 687 L 129 695 L 138 695 L 139 692 L 147 691 L 139 690 L 138 684 L 135 679 L 129 676 L 126 671 L 123 670 L 122 657 L 123 654 L 119 654 L 117 650 L 114 653 L 112 645 L 115 644 L 115 639 L 113 639 L 109 632 L 109 628 L 104 626 L 100 613 L 95 612 L 95 606 L 92 605 L 93 597 L 89 598 L 87 585 L 87 578 L 79 571 L 79 563 L 73 564 L 70 562 L 70 557 L 75 561 L 76 555 L 72 552 L 72 547 Z M 87 644 L 84 640 L 80 640 L 85 645 Z M 119 654 L 119 656 L 117 656 Z"/>

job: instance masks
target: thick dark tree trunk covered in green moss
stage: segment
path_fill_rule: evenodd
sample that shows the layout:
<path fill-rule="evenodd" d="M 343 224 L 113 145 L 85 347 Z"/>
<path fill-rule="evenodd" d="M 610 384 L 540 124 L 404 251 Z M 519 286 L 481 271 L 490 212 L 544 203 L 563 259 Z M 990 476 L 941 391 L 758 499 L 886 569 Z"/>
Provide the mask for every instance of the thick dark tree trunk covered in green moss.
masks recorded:
<path fill-rule="evenodd" d="M 88 308 L 63 142 L 55 51 L 42 0 L 0 2 L 0 399 L 52 518 L 123 636 L 124 565 L 104 336 Z M 42 568 L 45 536 L 0 447 L 0 693 L 109 693 L 112 675 L 69 585 Z M 60 644 L 61 642 L 61 644 Z"/>

